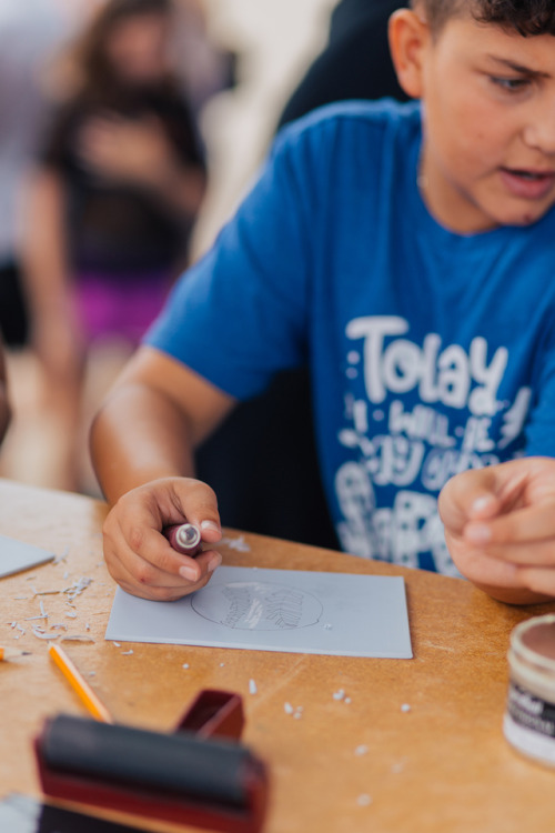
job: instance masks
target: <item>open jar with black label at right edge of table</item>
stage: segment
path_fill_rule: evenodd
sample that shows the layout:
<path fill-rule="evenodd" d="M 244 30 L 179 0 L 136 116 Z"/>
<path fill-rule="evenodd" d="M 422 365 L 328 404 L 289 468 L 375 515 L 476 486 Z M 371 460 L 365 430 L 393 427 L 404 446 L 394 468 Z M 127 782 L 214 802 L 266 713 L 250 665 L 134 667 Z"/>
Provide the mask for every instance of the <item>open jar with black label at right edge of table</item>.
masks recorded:
<path fill-rule="evenodd" d="M 555 767 L 555 614 L 513 630 L 508 666 L 503 733 L 522 754 Z"/>

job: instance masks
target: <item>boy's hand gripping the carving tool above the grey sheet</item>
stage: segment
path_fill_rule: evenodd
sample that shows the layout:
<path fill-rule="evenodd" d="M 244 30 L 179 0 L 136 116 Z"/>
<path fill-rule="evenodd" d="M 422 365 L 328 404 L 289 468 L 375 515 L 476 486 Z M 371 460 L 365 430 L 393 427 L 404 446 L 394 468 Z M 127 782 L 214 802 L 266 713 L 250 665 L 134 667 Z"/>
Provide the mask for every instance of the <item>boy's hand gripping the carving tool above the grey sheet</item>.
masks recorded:
<path fill-rule="evenodd" d="M 128 593 L 154 601 L 175 601 L 203 588 L 222 559 L 210 549 L 194 559 L 173 550 L 162 529 L 185 522 L 200 529 L 204 545 L 220 541 L 218 502 L 205 483 L 164 478 L 127 492 L 102 530 L 111 576 Z"/>

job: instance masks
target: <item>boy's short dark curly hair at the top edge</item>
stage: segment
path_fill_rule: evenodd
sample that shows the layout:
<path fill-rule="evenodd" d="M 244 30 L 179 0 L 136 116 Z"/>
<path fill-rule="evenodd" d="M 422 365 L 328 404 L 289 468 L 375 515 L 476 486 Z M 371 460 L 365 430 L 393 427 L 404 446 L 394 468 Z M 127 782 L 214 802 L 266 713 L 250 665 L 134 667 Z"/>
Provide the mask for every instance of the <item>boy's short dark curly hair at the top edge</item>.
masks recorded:
<path fill-rule="evenodd" d="M 524 37 L 555 34 L 553 0 L 412 0 L 412 6 L 424 10 L 434 32 L 450 18 L 468 10 L 481 23 L 516 29 Z"/>

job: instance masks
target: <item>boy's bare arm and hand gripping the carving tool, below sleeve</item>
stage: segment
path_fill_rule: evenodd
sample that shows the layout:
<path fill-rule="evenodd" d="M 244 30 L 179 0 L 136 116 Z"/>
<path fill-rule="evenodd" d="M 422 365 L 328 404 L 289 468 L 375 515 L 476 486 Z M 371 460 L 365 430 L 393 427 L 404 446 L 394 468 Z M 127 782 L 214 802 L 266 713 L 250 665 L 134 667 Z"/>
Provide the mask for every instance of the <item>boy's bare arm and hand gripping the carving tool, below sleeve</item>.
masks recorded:
<path fill-rule="evenodd" d="M 193 479 L 193 448 L 234 400 L 185 365 L 149 347 L 130 361 L 91 431 L 93 464 L 112 509 L 104 555 L 124 590 L 170 601 L 199 590 L 220 564 L 210 549 L 176 553 L 163 526 L 189 521 L 205 544 L 221 538 L 213 491 Z"/>

